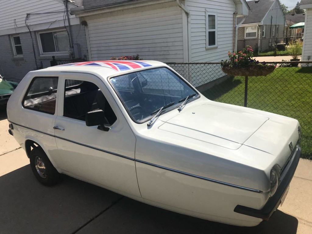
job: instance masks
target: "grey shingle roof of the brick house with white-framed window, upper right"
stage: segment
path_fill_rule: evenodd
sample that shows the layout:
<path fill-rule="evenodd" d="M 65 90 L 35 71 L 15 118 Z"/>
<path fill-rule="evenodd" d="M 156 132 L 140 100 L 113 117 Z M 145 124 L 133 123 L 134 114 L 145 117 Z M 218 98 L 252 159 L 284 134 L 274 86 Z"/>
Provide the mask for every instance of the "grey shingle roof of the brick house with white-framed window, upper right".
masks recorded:
<path fill-rule="evenodd" d="M 270 10 L 274 2 L 275 1 L 272 1 L 272 0 L 260 0 L 258 3 L 255 3 L 255 1 L 248 1 L 247 4 L 250 7 L 250 11 L 249 11 L 249 15 L 246 16 L 246 19 L 243 22 L 243 24 L 261 22 L 262 19 L 266 16 L 266 13 Z M 242 17 L 237 17 L 237 18 L 242 18 Z M 241 20 L 241 19 L 237 19 L 237 23 L 238 23 L 238 20 Z"/>

